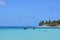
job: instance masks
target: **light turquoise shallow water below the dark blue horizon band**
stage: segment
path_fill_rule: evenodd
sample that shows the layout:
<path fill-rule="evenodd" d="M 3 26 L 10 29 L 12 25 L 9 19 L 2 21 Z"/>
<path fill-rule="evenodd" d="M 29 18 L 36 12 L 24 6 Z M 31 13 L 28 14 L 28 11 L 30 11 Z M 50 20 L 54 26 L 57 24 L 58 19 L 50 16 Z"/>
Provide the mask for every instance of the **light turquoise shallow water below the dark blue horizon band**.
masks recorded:
<path fill-rule="evenodd" d="M 60 40 L 60 29 L 0 28 L 0 40 Z"/>

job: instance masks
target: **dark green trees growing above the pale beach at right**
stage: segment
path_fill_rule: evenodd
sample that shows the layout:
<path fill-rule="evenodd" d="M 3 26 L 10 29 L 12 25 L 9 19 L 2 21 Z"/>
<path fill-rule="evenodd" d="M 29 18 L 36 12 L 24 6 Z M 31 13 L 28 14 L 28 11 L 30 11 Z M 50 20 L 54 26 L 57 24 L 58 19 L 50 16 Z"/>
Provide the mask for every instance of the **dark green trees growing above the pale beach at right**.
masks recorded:
<path fill-rule="evenodd" d="M 49 20 L 49 21 L 40 21 L 39 22 L 39 26 L 42 26 L 42 25 L 46 25 L 46 26 L 56 26 L 56 25 L 60 25 L 60 20 Z"/>

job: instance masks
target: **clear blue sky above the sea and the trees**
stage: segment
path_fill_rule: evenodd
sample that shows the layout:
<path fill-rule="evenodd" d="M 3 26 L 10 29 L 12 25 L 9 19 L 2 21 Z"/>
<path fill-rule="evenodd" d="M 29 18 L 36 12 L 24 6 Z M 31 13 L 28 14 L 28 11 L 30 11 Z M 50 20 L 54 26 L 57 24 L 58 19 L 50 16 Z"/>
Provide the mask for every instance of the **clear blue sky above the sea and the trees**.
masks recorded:
<path fill-rule="evenodd" d="M 60 0 L 0 0 L 0 26 L 38 26 L 60 19 Z"/>

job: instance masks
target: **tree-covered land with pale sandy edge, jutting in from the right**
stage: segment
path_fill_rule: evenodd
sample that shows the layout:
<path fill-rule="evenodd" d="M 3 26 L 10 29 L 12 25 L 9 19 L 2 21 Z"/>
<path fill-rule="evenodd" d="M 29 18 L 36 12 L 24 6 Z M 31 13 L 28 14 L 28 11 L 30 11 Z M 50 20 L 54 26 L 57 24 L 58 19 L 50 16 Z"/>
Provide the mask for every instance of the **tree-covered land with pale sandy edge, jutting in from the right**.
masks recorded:
<path fill-rule="evenodd" d="M 60 19 L 59 20 L 48 20 L 48 21 L 40 21 L 39 26 L 49 26 L 49 27 L 60 27 Z"/>

